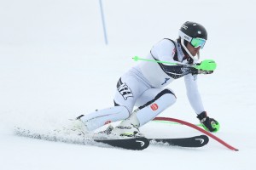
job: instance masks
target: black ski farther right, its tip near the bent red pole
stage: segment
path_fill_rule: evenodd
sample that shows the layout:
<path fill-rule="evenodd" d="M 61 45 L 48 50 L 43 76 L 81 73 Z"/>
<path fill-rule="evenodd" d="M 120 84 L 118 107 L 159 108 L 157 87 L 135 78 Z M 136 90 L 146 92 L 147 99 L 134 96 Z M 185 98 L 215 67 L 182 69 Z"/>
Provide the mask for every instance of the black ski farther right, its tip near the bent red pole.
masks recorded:
<path fill-rule="evenodd" d="M 209 142 L 206 135 L 194 136 L 191 138 L 178 138 L 178 139 L 148 139 L 150 144 L 166 144 L 181 147 L 202 147 Z"/>

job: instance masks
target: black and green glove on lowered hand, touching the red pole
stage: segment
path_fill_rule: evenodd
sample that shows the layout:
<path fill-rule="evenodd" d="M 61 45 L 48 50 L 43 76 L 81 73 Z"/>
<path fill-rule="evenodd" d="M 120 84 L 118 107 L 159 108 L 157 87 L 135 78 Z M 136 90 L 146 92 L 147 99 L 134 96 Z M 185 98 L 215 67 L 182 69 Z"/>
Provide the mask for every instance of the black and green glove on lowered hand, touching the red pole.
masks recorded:
<path fill-rule="evenodd" d="M 200 122 L 202 123 L 202 126 L 210 132 L 217 132 L 219 129 L 219 124 L 216 120 L 210 118 L 207 116 L 207 112 L 203 111 L 201 114 L 196 116 Z"/>

